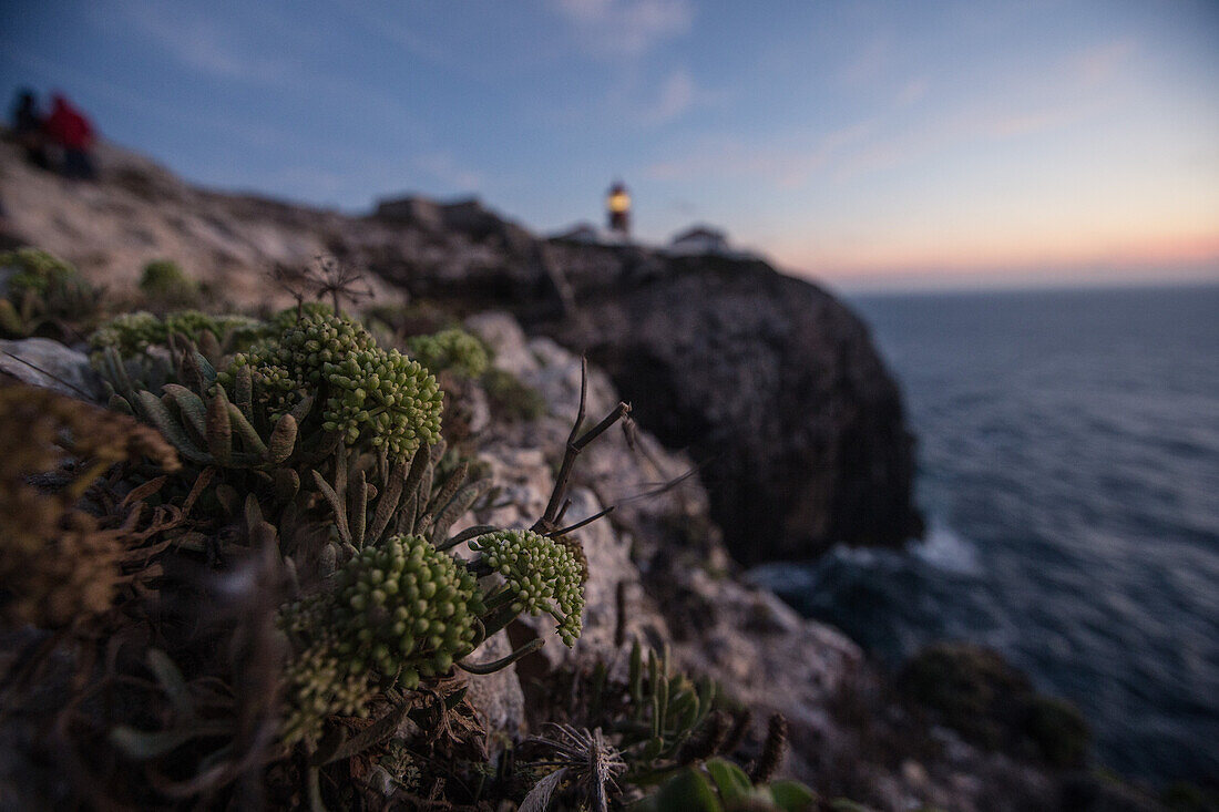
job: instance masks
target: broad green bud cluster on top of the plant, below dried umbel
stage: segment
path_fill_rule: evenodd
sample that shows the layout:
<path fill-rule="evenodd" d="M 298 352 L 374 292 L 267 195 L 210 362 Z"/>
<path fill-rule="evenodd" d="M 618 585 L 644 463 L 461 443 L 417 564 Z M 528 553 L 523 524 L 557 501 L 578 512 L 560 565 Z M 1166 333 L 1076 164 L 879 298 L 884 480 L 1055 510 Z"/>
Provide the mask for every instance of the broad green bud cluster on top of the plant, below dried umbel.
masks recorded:
<path fill-rule="evenodd" d="M 235 356 L 221 383 L 227 385 L 240 366 L 250 367 L 274 410 L 321 391 L 323 428 L 339 432 L 347 445 L 366 440 L 400 457 L 440 439 L 436 379 L 397 350 L 379 347 L 349 318 L 306 313 L 277 338 Z"/>

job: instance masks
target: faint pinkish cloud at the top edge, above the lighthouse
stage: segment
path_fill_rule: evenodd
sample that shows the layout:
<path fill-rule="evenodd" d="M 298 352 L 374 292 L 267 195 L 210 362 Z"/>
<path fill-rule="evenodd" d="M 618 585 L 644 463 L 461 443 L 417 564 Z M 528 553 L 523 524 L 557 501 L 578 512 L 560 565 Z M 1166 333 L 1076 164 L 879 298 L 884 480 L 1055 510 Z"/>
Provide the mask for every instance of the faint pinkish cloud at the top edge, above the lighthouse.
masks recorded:
<path fill-rule="evenodd" d="M 690 30 L 689 0 L 553 0 L 596 56 L 636 56 Z"/>

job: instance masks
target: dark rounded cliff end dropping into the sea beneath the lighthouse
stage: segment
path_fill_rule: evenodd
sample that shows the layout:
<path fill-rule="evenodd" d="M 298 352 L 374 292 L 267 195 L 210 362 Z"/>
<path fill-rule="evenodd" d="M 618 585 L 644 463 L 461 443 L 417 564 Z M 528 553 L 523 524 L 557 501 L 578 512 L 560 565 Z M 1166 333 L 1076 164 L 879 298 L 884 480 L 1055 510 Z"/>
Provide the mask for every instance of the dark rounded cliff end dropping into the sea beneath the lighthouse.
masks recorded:
<path fill-rule="evenodd" d="M 556 246 L 583 347 L 640 424 L 700 461 L 734 556 L 807 558 L 922 533 L 913 439 L 868 329 L 762 261 Z"/>

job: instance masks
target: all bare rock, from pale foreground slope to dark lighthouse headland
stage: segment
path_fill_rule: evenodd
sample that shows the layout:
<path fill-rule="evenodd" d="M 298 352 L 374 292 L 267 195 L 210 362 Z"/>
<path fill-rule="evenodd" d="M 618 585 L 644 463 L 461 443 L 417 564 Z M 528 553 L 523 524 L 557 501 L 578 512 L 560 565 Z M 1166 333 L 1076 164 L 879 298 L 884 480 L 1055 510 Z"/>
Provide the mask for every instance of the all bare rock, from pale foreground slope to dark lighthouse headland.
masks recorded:
<path fill-rule="evenodd" d="M 761 263 L 549 244 L 474 205 L 411 201 L 350 218 L 194 189 L 121 152 L 111 152 L 106 167 L 100 184 L 72 185 L 4 151 L 6 238 L 79 262 L 119 300 L 144 262 L 173 257 L 210 283 L 215 296 L 266 307 L 279 294 L 260 272 L 330 252 L 375 269 L 385 301 L 401 301 L 406 289 L 463 311 L 466 327 L 495 349 L 497 369 L 536 390 L 541 402 L 531 417 L 507 418 L 489 407 L 483 383 L 444 383 L 446 413 L 477 440 L 479 463 L 499 489 L 496 501 L 469 521 L 519 527 L 541 512 L 580 391 L 580 363 L 564 343 L 586 346 L 610 373 L 590 374 L 591 416 L 625 393 L 664 445 L 697 455 L 666 449 L 647 432 L 614 430 L 580 457 L 567 519 L 618 505 L 608 519 L 579 530 L 589 573 L 584 634 L 570 650 L 546 645 L 472 680 L 471 701 L 492 739 L 536 733 L 567 701 L 553 696 L 562 679 L 588 674 L 599 662 L 622 672 L 635 639 L 669 647 L 683 669 L 713 678 L 730 702 L 752 712 L 744 751 L 757 752 L 767 714 L 781 712 L 791 746 L 784 772 L 826 796 L 885 810 L 962 811 L 1057 808 L 1067 797 L 1072 775 L 940 727 L 897 701 L 889 680 L 841 633 L 744 583 L 708 518 L 730 524 L 734 516 L 752 517 L 740 521 L 791 533 L 805 545 L 755 549 L 742 534 L 735 554 L 746 560 L 803 555 L 835 536 L 892 540 L 915 527 L 896 388 L 863 326 L 823 291 Z M 486 305 L 500 311 L 485 312 Z M 96 376 L 82 352 L 45 339 L 0 349 L 7 357 L 0 386 L 12 377 L 37 385 L 67 382 L 66 394 L 96 396 Z M 723 452 L 708 454 L 717 443 Z M 833 473 L 801 475 L 800 458 L 818 455 Z M 853 461 L 839 465 L 844 460 Z M 695 462 L 698 471 L 681 478 Z M 733 475 L 742 477 L 748 499 L 722 488 Z M 677 486 L 657 493 L 675 479 Z M 869 482 L 887 495 L 869 496 Z M 739 501 L 724 502 L 733 499 Z M 803 501 L 812 504 L 801 508 Z M 874 511 L 887 513 L 875 518 Z M 755 538 L 775 544 L 761 532 Z M 489 643 L 485 656 L 550 633 L 542 621 L 527 618 Z M 22 652 L 0 641 L 0 671 Z M 62 696 L 51 702 L 61 703 Z M 17 725 L 0 735 L 0 797 L 6 778 L 21 788 L 13 797 L 35 797 L 45 789 L 39 782 L 48 778 L 46 764 L 55 763 L 22 761 L 23 747 L 38 752 L 28 741 L 10 741 L 22 735 Z M 65 778 L 54 773 L 48 780 L 55 789 Z M 1085 806 L 1062 800 L 1062 808 Z"/>

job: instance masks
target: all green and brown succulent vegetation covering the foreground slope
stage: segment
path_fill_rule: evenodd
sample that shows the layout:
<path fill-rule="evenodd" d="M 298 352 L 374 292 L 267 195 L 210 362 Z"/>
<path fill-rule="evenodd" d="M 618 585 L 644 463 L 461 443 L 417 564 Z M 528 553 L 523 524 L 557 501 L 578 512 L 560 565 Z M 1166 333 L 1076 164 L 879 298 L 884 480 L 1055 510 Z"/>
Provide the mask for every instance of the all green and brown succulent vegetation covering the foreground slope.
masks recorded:
<path fill-rule="evenodd" d="M 2 712 L 32 766 L 11 800 L 670 810 L 709 786 L 698 808 L 809 808 L 807 788 L 767 783 L 781 717 L 746 772 L 730 760 L 747 714 L 639 640 L 625 673 L 569 672 L 541 735 L 488 739 L 473 683 L 581 635 L 596 574 L 586 523 L 563 525 L 568 475 L 625 405 L 589 427 L 581 402 L 531 527 L 471 524 L 495 483 L 441 435 L 435 376 L 479 378 L 495 347 L 447 328 L 386 349 L 304 297 L 267 319 L 104 319 L 71 266 L 4 261 L 22 324 L 98 323 L 106 404 L 0 389 L 0 612 L 22 652 Z M 178 285 L 167 267 L 145 282 Z M 480 656 L 539 616 L 557 640 Z"/>

